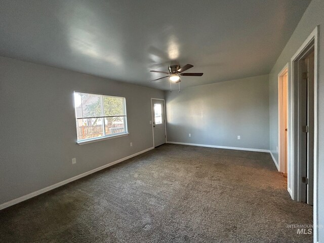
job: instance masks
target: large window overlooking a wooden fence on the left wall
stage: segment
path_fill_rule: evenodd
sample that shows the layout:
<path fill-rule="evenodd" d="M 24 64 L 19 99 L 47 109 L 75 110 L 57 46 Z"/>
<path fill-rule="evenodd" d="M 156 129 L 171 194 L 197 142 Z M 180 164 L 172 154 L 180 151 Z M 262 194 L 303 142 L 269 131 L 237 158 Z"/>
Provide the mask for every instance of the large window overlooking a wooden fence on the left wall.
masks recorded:
<path fill-rule="evenodd" d="M 79 144 L 127 134 L 124 97 L 74 92 Z"/>

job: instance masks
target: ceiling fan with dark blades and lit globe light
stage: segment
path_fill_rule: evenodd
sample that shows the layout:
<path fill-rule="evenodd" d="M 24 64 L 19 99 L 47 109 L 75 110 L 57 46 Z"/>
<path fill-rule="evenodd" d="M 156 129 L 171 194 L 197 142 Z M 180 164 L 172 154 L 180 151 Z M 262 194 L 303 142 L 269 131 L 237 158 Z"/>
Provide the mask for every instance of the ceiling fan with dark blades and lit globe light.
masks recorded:
<path fill-rule="evenodd" d="M 169 72 L 151 70 L 150 72 L 158 72 L 158 73 L 168 74 L 167 76 L 153 79 L 153 80 L 151 80 L 151 82 L 169 77 L 170 91 L 171 91 L 171 82 L 174 82 L 175 84 L 179 84 L 179 92 L 180 92 L 180 82 L 181 82 L 180 76 L 203 76 L 203 74 L 204 74 L 203 72 L 185 72 L 185 73 L 183 73 L 184 71 L 186 71 L 192 67 L 193 67 L 193 65 L 191 65 L 191 64 L 186 64 L 183 67 L 180 67 L 179 65 L 171 65 L 168 67 Z"/>

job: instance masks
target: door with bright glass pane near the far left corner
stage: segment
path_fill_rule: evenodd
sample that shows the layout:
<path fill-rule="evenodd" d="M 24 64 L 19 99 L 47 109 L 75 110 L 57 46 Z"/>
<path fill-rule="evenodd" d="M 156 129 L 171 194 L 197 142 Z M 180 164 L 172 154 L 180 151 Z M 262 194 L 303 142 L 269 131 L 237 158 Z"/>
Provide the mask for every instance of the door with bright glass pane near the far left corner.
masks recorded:
<path fill-rule="evenodd" d="M 166 119 L 164 100 L 151 99 L 154 147 L 166 143 Z"/>

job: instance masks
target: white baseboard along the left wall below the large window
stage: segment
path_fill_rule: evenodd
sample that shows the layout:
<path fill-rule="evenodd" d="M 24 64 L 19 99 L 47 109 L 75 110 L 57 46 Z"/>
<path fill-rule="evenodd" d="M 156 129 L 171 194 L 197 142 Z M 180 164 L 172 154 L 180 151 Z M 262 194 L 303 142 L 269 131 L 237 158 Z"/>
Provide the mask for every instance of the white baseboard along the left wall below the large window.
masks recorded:
<path fill-rule="evenodd" d="M 11 201 L 7 201 L 7 203 L 4 203 L 4 204 L 1 204 L 1 205 L 0 205 L 0 210 L 5 209 L 5 208 L 8 208 L 8 207 L 10 207 L 10 206 L 13 206 L 13 205 L 15 205 L 15 204 L 18 204 L 18 203 L 20 203 L 21 201 L 27 200 L 27 199 L 29 199 L 29 198 L 32 198 L 32 197 L 37 196 L 37 195 L 39 195 L 39 194 L 42 194 L 42 193 L 44 193 L 44 192 L 47 192 L 47 191 L 53 190 L 53 189 L 55 189 L 55 188 L 57 188 L 57 187 L 59 187 L 59 186 L 63 186 L 63 185 L 65 185 L 65 184 L 69 183 L 69 182 L 72 182 L 72 181 L 75 181 L 75 180 L 80 179 L 80 178 L 82 178 L 82 177 L 88 176 L 88 175 L 90 175 L 90 174 L 92 174 L 92 173 L 95 173 L 95 172 L 97 172 L 97 171 L 103 170 L 103 169 L 105 169 L 105 168 L 107 168 L 107 167 L 110 167 L 110 166 L 113 166 L 113 165 L 115 165 L 115 164 L 118 164 L 118 163 L 120 163 L 121 161 L 124 161 L 124 160 L 126 160 L 126 159 L 129 159 L 129 158 L 135 157 L 135 156 L 137 156 L 137 155 L 139 155 L 139 154 L 141 154 L 141 153 L 145 153 L 145 152 L 147 152 L 147 151 L 149 151 L 149 150 L 151 150 L 151 149 L 154 149 L 154 147 L 147 148 L 147 149 L 145 149 L 145 150 L 143 150 L 143 151 L 140 151 L 140 152 L 134 153 L 134 154 L 129 155 L 129 156 L 125 157 L 125 158 L 120 158 L 120 159 L 118 159 L 118 160 L 116 160 L 116 161 L 113 161 L 113 162 L 107 164 L 107 165 L 104 165 L 104 166 L 98 167 L 98 168 L 96 168 L 96 169 L 93 169 L 93 170 L 91 170 L 91 171 L 85 172 L 85 173 L 80 174 L 80 175 L 78 175 L 78 176 L 74 176 L 74 177 L 72 177 L 72 178 L 69 178 L 69 179 L 66 179 L 66 180 L 64 180 L 64 181 L 58 182 L 58 183 L 56 183 L 56 184 L 54 184 L 54 185 L 51 185 L 51 186 L 45 187 L 45 188 L 40 189 L 40 190 L 38 190 L 38 191 L 34 191 L 34 192 L 31 192 L 31 193 L 29 193 L 29 194 L 27 194 L 27 195 L 24 195 L 24 196 L 18 197 L 18 198 L 16 198 L 16 199 L 13 199 L 13 200 L 11 200 Z"/>

